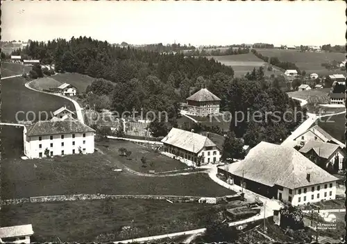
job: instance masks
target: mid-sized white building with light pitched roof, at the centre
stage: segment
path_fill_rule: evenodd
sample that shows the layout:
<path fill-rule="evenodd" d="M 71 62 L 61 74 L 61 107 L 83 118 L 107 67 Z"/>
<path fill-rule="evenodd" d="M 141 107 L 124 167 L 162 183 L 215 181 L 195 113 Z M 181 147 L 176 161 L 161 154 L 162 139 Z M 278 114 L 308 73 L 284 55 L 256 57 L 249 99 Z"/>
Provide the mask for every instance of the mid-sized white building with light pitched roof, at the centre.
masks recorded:
<path fill-rule="evenodd" d="M 221 157 L 220 149 L 208 137 L 186 130 L 172 128 L 164 139 L 164 152 L 171 153 L 177 157 L 188 160 L 191 163 L 201 164 L 219 162 Z"/>

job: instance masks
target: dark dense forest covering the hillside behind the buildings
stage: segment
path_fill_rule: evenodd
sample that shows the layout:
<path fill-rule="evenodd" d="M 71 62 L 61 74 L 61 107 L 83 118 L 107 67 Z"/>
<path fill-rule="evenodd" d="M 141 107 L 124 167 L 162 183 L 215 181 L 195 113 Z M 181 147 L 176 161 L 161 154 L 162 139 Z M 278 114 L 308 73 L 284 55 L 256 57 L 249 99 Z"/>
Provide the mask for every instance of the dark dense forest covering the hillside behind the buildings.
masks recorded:
<path fill-rule="evenodd" d="M 234 78 L 232 67 L 214 59 L 162 55 L 115 46 L 90 37 L 58 39 L 46 44 L 31 42 L 12 55 L 40 59 L 42 64 L 53 63 L 58 72 L 92 76 L 95 80 L 84 94 L 87 99 L 102 101 L 99 103 L 102 107 L 119 113 L 133 109 L 166 111 L 169 127 L 177 126 L 178 103 L 201 87 L 207 87 L 221 98 L 222 111 L 231 114 L 263 112 L 261 123 L 245 120 L 235 125 L 235 118 L 231 122 L 230 129 L 237 137 L 244 137 L 250 146 L 262 140 L 279 142 L 302 119 L 300 116 L 298 119 L 287 118 L 293 114 L 285 112 L 300 112 L 300 105 L 280 91 L 276 84 L 267 82 L 261 69 L 245 78 Z M 281 119 L 274 123 L 265 118 L 264 112 L 278 112 L 279 116 L 286 116 L 287 121 Z"/>

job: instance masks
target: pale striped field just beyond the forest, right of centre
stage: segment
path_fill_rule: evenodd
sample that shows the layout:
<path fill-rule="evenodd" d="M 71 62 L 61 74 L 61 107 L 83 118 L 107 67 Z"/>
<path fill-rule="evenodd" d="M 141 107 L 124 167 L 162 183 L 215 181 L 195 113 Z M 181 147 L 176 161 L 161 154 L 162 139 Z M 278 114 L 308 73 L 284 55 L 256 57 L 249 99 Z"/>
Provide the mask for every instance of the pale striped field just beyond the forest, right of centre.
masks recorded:
<path fill-rule="evenodd" d="M 265 62 L 253 53 L 238 54 L 238 55 L 225 55 L 225 56 L 212 56 L 221 64 L 232 67 L 235 72 L 235 77 L 244 76 L 247 72 L 253 71 L 253 68 L 258 69 L 263 66 Z"/>

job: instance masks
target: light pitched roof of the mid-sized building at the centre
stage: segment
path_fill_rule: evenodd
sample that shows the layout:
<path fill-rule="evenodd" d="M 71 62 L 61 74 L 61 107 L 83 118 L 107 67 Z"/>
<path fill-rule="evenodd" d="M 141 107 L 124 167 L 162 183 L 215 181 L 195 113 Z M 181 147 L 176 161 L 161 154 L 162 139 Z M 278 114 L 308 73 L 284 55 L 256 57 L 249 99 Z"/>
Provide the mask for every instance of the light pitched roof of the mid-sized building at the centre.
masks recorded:
<path fill-rule="evenodd" d="M 169 134 L 162 139 L 162 143 L 166 143 L 192 153 L 198 153 L 206 146 L 216 146 L 216 144 L 208 139 L 208 137 L 177 128 L 172 128 Z"/>

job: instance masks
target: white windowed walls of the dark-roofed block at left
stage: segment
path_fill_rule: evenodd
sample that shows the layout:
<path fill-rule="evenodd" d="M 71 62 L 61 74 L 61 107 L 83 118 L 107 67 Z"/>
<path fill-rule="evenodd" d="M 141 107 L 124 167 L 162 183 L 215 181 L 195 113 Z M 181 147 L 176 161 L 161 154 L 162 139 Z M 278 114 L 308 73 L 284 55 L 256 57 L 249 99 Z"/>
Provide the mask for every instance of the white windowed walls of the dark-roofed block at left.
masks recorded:
<path fill-rule="evenodd" d="M 83 137 L 83 134 L 85 134 L 85 137 Z M 62 135 L 64 135 L 64 139 L 62 139 Z M 41 141 L 38 136 L 30 137 L 30 141 L 26 143 L 26 156 L 38 158 L 40 153 L 42 153 L 42 157 L 46 157 L 44 155 L 46 148 L 49 149 L 50 155 L 53 156 L 61 156 L 62 151 L 64 151 L 64 155 L 78 154 L 80 146 L 84 154 L 94 153 L 94 132 L 74 133 L 74 135 L 75 138 L 73 138 L 73 133 L 44 135 Z M 51 139 L 51 136 L 53 139 Z"/>

